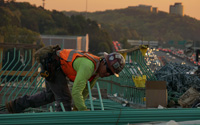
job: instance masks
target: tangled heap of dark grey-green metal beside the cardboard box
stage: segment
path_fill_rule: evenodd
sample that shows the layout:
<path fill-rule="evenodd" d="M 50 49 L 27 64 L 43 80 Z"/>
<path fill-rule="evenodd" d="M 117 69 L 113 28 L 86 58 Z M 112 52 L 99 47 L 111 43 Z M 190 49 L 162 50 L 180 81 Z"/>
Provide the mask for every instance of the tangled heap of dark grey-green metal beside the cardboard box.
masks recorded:
<path fill-rule="evenodd" d="M 167 81 L 167 90 L 170 97 L 179 98 L 190 87 L 200 88 L 200 78 L 191 74 L 194 67 L 177 63 L 168 63 L 155 72 L 158 80 Z"/>

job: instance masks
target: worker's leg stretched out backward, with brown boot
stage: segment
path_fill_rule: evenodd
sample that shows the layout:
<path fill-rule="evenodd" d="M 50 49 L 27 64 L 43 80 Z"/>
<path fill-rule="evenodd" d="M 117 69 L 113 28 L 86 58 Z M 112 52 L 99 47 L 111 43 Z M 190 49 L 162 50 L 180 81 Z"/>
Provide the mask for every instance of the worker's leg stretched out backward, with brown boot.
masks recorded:
<path fill-rule="evenodd" d="M 10 113 L 20 113 L 29 107 L 39 107 L 55 101 L 54 94 L 46 85 L 46 91 L 38 92 L 34 95 L 24 95 L 13 101 L 6 103 L 6 108 Z"/>

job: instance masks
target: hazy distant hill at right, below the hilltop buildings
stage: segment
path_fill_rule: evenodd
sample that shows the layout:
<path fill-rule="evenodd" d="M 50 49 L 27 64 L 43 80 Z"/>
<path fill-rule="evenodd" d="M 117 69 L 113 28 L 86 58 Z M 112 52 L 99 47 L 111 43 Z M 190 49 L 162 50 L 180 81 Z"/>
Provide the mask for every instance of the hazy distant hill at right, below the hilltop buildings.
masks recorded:
<path fill-rule="evenodd" d="M 111 34 L 113 40 L 200 41 L 200 21 L 189 16 L 182 17 L 162 11 L 150 13 L 135 8 L 107 10 L 87 15 L 88 18 L 99 22 L 102 28 Z"/>

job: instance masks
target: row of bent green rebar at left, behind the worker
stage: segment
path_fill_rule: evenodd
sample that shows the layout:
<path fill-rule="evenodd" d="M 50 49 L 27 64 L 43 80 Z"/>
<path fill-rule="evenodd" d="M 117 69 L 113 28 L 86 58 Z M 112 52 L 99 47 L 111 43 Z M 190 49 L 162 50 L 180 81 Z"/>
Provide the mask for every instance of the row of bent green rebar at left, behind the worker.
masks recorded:
<path fill-rule="evenodd" d="M 10 52 L 8 52 L 7 57 L 5 57 L 6 62 L 3 63 L 2 58 L 0 60 L 0 64 L 2 65 L 0 70 L 1 105 L 4 105 L 7 101 L 16 99 L 18 96 L 36 93 L 42 88 L 42 84 L 44 83 L 44 80 L 40 78 L 38 73 L 40 65 L 37 62 L 33 65 L 31 64 L 31 50 L 25 51 L 23 63 L 20 62 L 20 51 L 16 54 L 17 50 L 15 48 L 13 50 L 12 59 L 9 56 Z M 20 66 L 17 67 L 17 65 Z M 32 67 L 28 68 L 29 65 L 32 65 Z"/>

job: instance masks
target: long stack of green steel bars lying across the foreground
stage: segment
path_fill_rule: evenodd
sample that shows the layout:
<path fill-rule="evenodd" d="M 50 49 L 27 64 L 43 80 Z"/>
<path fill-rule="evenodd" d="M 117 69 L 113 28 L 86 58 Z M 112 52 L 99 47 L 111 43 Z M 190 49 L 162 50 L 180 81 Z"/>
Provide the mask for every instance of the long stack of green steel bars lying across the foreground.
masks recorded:
<path fill-rule="evenodd" d="M 200 118 L 200 109 L 128 109 L 0 114 L 1 125 L 133 124 L 154 121 L 191 121 Z"/>

